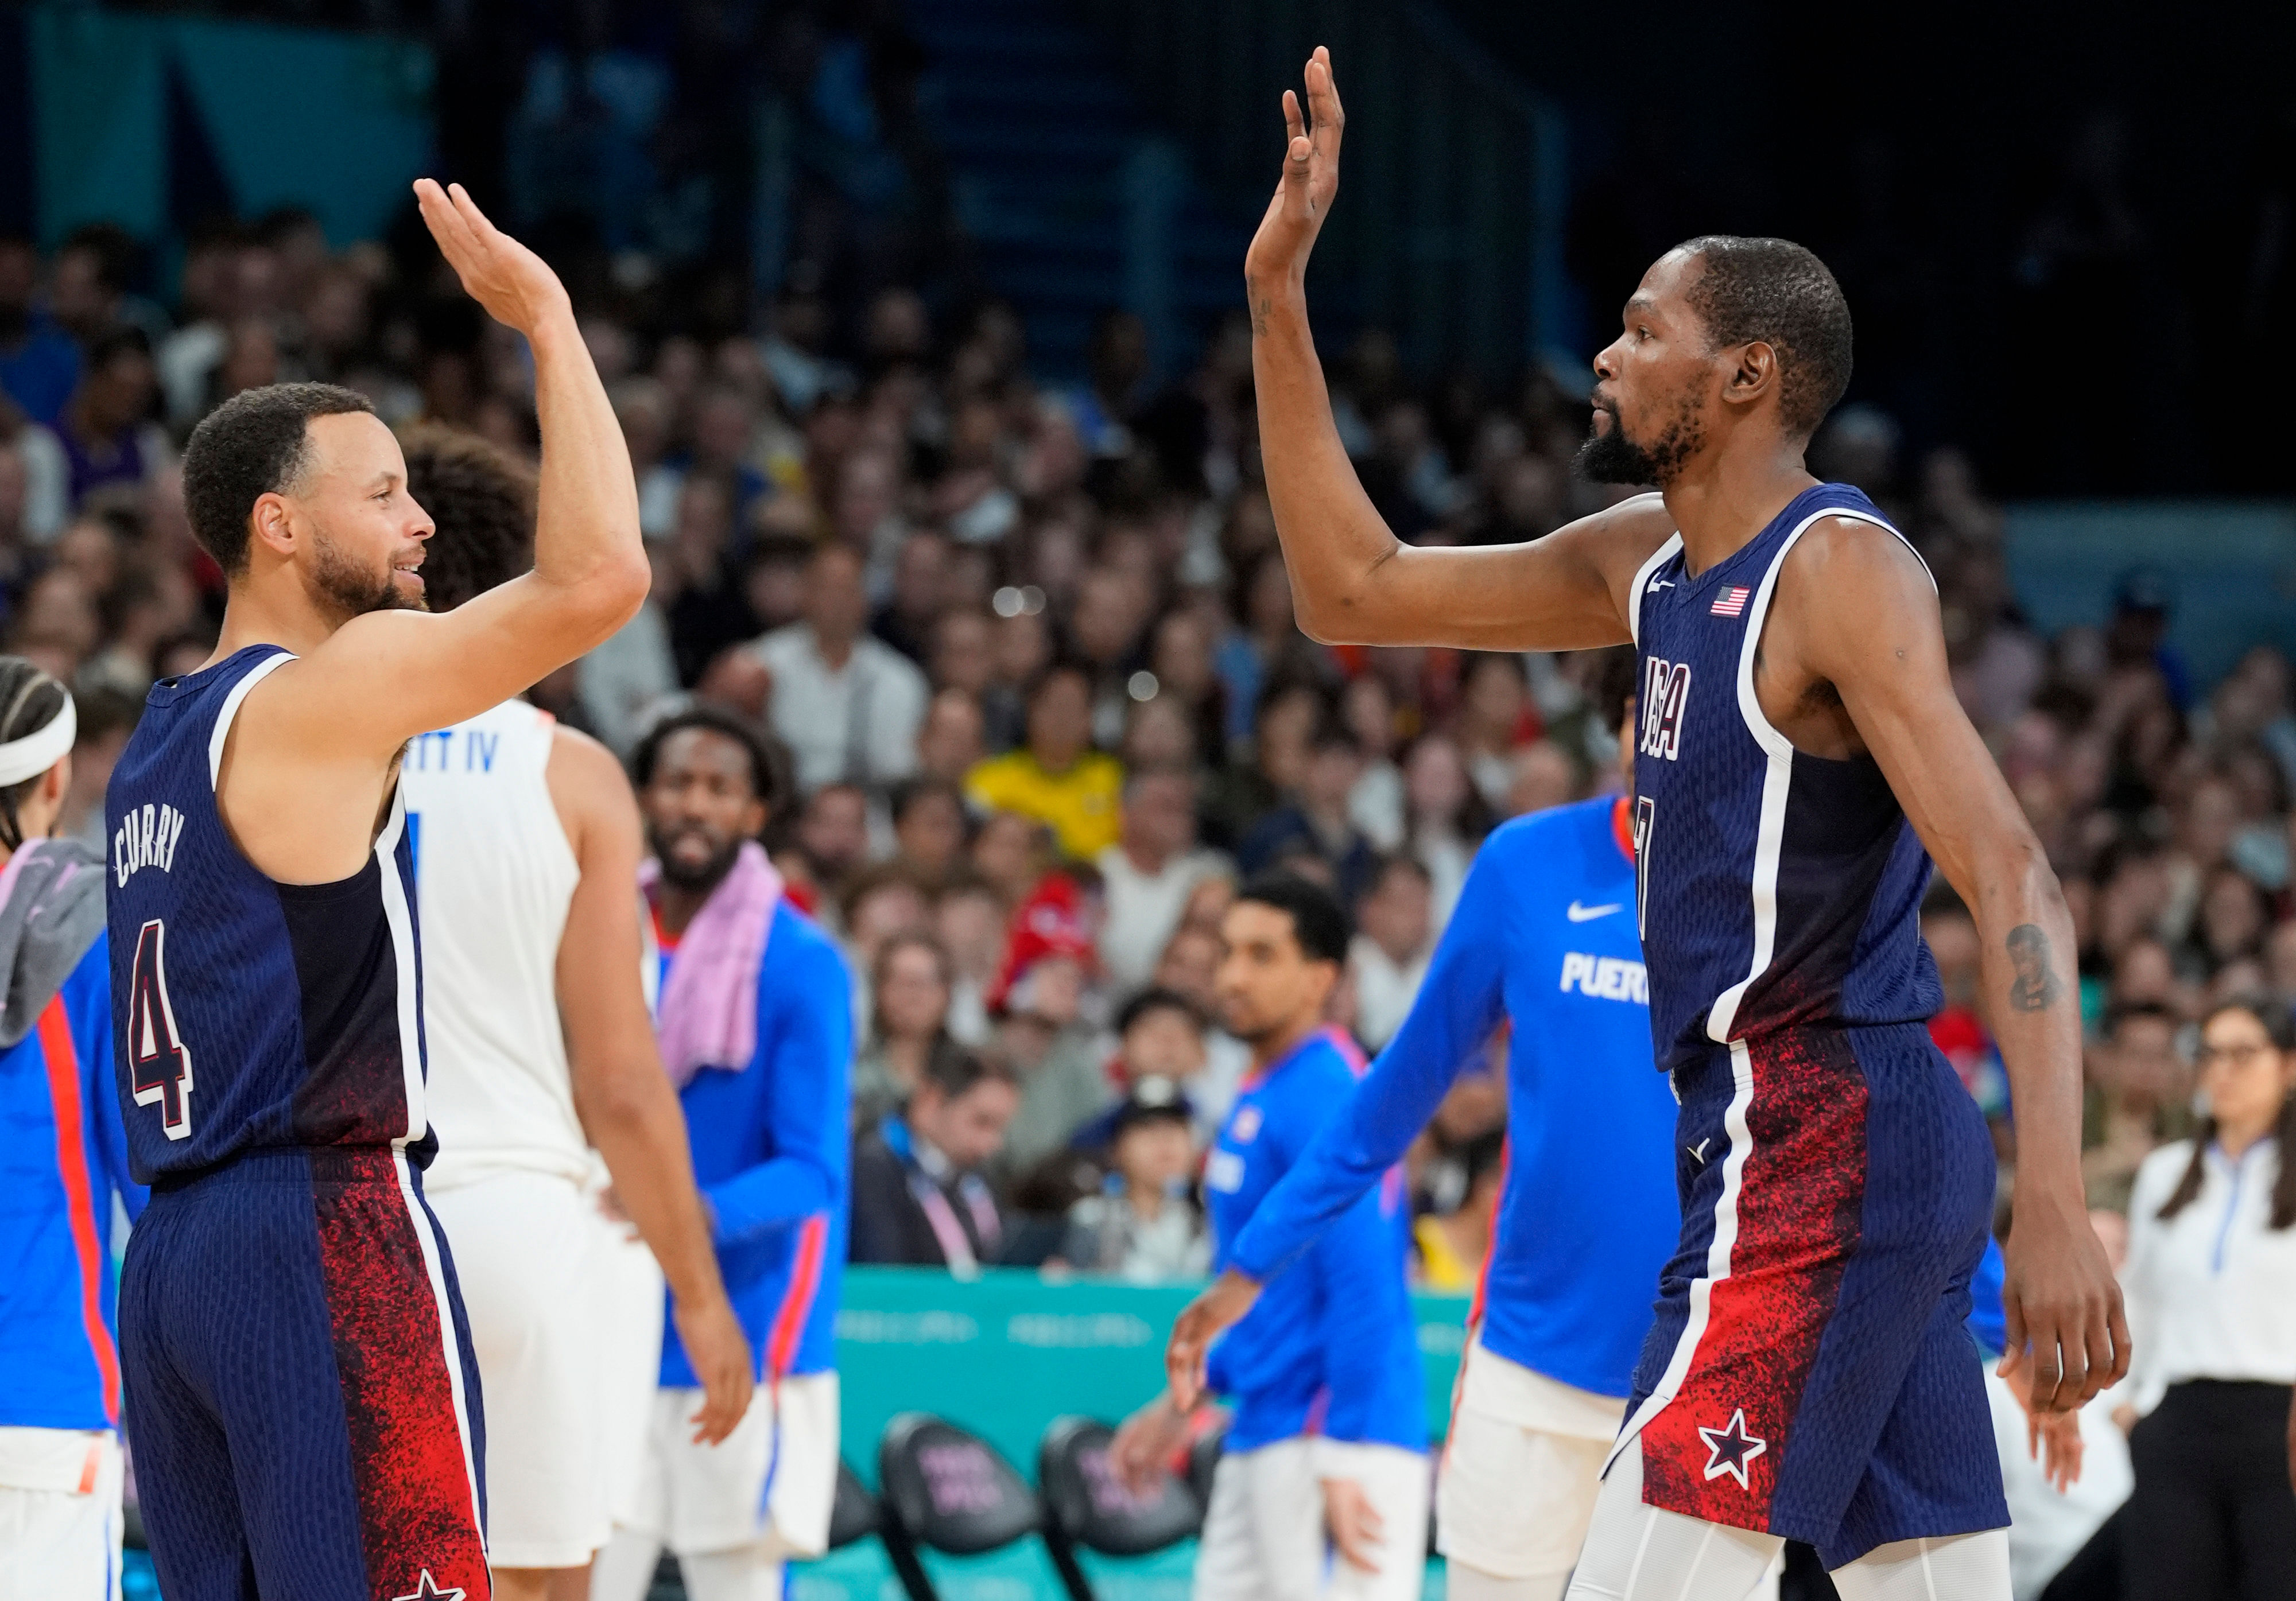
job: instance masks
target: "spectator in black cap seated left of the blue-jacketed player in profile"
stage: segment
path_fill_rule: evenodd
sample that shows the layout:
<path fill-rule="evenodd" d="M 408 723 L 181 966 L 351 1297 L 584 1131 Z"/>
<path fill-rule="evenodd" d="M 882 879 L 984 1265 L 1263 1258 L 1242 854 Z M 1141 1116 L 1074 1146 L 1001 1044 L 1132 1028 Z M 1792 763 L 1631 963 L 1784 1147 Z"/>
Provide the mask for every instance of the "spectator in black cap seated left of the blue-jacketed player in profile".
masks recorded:
<path fill-rule="evenodd" d="M 1134 1284 L 1203 1278 L 1212 1236 L 1189 1188 L 1194 1170 L 1187 1096 L 1171 1078 L 1134 1080 L 1116 1108 L 1107 1188 L 1068 1209 L 1061 1259 Z"/>

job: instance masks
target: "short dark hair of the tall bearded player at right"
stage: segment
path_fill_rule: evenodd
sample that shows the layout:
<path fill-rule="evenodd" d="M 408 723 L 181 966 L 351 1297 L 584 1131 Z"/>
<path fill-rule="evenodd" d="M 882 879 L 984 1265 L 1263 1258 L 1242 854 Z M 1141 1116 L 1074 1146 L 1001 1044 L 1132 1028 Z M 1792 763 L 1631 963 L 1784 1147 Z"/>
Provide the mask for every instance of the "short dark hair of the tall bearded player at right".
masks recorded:
<path fill-rule="evenodd" d="M 1851 388 L 1851 303 L 1825 261 L 1791 239 L 1701 234 L 1676 248 L 1701 261 L 1688 298 L 1715 349 L 1773 346 L 1779 420 L 1816 434 Z"/>

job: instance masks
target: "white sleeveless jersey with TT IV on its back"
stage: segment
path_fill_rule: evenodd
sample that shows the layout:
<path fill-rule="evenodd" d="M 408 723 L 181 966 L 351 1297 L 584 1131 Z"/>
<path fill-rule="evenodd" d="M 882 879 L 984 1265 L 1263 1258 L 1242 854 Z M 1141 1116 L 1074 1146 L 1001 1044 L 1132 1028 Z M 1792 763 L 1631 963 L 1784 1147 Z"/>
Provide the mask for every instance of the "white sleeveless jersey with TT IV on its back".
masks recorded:
<path fill-rule="evenodd" d="M 581 867 L 551 805 L 556 718 L 505 700 L 406 743 L 400 789 L 416 851 L 429 1122 L 429 1188 L 503 1170 L 581 1184 L 558 1021 L 558 940 Z"/>

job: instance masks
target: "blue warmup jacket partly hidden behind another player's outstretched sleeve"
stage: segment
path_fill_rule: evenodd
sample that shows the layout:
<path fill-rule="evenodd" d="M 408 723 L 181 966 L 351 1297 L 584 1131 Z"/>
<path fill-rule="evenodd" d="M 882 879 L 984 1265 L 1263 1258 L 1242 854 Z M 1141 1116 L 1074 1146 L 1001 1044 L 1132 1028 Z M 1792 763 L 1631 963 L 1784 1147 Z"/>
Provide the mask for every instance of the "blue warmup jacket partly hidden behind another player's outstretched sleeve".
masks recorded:
<path fill-rule="evenodd" d="M 1336 1030 L 1316 1032 L 1235 1094 L 1203 1167 L 1212 1268 L 1267 1190 L 1355 1090 L 1362 1057 Z M 1362 1186 L 1297 1271 L 1267 1284 L 1251 1312 L 1212 1344 L 1210 1385 L 1228 1397 L 1228 1450 L 1300 1434 L 1350 1445 L 1428 1443 L 1426 1376 L 1403 1257 L 1410 1206 L 1401 1174 Z"/>

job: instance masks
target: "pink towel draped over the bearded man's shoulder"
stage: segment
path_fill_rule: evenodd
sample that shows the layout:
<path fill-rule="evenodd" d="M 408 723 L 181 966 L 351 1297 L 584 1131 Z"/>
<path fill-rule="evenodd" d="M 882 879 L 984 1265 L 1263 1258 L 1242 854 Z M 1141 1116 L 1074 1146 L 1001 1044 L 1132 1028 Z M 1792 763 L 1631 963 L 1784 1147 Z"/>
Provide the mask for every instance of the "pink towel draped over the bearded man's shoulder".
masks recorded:
<path fill-rule="evenodd" d="M 661 883 L 661 862 L 638 867 L 638 888 Z M 677 961 L 654 1007 L 661 1067 L 680 1090 L 705 1067 L 739 1073 L 758 1055 L 758 975 L 781 904 L 781 874 L 748 839 L 732 872 L 677 936 Z"/>

